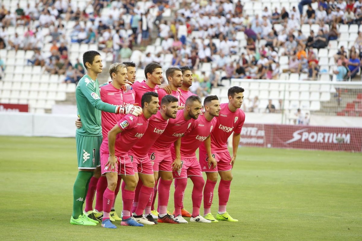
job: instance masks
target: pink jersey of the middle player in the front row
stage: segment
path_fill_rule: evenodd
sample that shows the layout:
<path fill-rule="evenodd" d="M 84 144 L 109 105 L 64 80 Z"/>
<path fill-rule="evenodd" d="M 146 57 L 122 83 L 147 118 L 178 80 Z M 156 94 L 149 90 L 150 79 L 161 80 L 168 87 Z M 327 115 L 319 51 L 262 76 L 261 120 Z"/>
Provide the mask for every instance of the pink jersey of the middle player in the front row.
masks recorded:
<path fill-rule="evenodd" d="M 170 145 L 188 130 L 194 119 L 186 120 L 184 117 L 184 110 L 177 111 L 176 119 L 170 119 L 168 125 L 163 134 L 157 139 L 157 141 L 151 147 L 151 150 L 158 152 L 168 150 Z"/>

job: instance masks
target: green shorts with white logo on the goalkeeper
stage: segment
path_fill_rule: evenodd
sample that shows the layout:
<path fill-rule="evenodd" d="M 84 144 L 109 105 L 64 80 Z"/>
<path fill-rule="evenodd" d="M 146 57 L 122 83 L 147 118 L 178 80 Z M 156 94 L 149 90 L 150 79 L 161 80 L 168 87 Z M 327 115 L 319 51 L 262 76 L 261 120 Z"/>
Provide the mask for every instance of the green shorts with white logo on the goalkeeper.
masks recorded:
<path fill-rule="evenodd" d="M 101 165 L 99 149 L 102 136 L 89 137 L 75 134 L 79 169 L 96 169 Z"/>

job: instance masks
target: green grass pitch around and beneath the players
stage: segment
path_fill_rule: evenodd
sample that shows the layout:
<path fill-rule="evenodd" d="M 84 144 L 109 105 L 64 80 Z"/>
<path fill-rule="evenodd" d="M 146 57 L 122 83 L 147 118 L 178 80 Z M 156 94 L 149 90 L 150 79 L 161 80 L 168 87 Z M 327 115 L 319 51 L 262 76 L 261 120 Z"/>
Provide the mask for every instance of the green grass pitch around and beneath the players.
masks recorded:
<path fill-rule="evenodd" d="M 0 143 L 3 240 L 362 240 L 360 153 L 243 147 L 227 208 L 239 222 L 143 228 L 116 223 L 118 228 L 109 230 L 69 224 L 75 139 L 0 137 Z M 189 182 L 184 201 L 189 211 L 191 188 Z M 119 195 L 118 214 L 121 204 Z"/>

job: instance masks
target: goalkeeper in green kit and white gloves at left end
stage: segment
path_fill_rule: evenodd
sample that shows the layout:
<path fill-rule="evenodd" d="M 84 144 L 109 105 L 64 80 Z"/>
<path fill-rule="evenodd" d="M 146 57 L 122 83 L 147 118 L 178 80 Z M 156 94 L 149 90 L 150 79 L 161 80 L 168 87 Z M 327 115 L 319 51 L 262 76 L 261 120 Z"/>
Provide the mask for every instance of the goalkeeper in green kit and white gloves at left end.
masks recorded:
<path fill-rule="evenodd" d="M 99 155 L 102 143 L 101 111 L 138 116 L 142 113 L 142 108 L 133 105 L 122 107 L 123 103 L 114 106 L 102 102 L 97 79 L 103 67 L 100 53 L 85 52 L 83 64 L 87 74 L 79 80 L 75 91 L 78 116 L 83 126 L 76 130 L 75 136 L 79 172 L 73 186 L 73 214 L 70 223 L 97 225 L 98 221 L 83 214 L 83 204 L 93 171 L 101 165 Z"/>

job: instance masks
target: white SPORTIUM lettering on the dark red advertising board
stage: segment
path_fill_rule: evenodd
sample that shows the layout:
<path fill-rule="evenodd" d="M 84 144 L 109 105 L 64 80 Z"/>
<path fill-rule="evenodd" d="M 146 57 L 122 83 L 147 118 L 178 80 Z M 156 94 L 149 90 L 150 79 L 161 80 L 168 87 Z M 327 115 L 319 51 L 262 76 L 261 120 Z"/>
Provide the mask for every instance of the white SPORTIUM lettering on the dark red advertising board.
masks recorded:
<path fill-rule="evenodd" d="M 346 143 L 349 144 L 351 140 L 351 134 L 345 133 L 325 133 L 325 132 L 307 132 L 308 128 L 297 130 L 293 133 L 293 138 L 285 143 L 292 143 L 295 141 L 308 141 L 308 142 L 319 142 L 319 143 Z M 302 133 L 302 135 L 300 135 Z"/>

